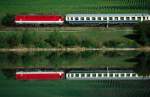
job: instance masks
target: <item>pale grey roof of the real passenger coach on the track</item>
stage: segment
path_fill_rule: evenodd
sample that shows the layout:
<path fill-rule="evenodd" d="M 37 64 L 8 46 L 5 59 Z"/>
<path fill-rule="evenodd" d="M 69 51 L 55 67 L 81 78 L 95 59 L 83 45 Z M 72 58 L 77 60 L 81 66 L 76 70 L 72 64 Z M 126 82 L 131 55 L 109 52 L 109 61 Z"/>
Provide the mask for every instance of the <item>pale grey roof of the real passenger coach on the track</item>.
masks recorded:
<path fill-rule="evenodd" d="M 94 17 L 100 17 L 100 16 L 150 16 L 150 14 L 148 13 L 123 13 L 123 14 L 67 14 L 66 16 L 78 16 L 78 17 L 91 17 L 91 16 L 94 16 Z"/>

